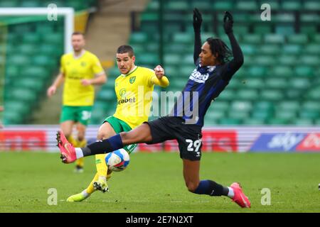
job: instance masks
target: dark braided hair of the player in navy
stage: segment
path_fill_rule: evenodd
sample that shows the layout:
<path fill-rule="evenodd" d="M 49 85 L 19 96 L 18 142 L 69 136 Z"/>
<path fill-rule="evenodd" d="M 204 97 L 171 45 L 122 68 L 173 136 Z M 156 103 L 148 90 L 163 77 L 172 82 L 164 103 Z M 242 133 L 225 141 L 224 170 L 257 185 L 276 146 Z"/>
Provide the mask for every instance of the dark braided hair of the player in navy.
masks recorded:
<path fill-rule="evenodd" d="M 206 41 L 210 45 L 212 54 L 218 54 L 218 62 L 223 64 L 230 61 L 229 57 L 233 56 L 233 52 L 231 52 L 231 50 L 228 48 L 228 45 L 226 45 L 223 40 L 220 40 L 220 38 L 207 38 Z"/>

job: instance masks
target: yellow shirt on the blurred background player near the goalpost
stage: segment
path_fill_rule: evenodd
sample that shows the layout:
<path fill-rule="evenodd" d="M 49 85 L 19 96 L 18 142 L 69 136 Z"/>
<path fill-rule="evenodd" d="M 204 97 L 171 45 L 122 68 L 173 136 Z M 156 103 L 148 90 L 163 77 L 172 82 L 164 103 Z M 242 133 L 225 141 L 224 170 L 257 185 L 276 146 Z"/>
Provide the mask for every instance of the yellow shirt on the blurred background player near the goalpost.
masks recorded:
<path fill-rule="evenodd" d="M 60 72 L 64 74 L 64 106 L 92 106 L 95 99 L 93 85 L 83 86 L 82 79 L 93 79 L 104 72 L 99 59 L 91 52 L 84 50 L 80 57 L 73 52 L 61 57 Z"/>

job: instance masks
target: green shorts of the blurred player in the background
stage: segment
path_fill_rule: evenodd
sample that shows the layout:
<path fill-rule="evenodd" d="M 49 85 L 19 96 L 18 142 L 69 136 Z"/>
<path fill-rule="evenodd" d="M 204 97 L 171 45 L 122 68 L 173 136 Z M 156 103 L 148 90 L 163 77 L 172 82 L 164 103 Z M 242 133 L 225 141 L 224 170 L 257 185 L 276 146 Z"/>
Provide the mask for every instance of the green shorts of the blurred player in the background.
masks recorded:
<path fill-rule="evenodd" d="M 91 118 L 91 111 L 92 106 L 63 106 L 60 123 L 75 121 L 87 126 Z"/>

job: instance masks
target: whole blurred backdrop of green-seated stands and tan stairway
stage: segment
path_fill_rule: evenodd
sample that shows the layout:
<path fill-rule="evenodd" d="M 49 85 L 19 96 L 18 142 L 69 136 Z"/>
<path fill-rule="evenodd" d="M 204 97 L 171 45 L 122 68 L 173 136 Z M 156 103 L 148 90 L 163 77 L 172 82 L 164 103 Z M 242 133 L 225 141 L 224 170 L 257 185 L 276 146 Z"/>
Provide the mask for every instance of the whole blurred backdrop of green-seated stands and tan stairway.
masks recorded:
<path fill-rule="evenodd" d="M 203 13 L 202 40 L 222 38 L 223 11 L 235 19 L 234 33 L 245 64 L 206 115 L 206 125 L 320 124 L 320 2 L 315 0 L 1 0 L 0 7 L 73 7 L 75 31 L 86 34 L 86 49 L 95 53 L 108 74 L 98 89 L 92 124 L 100 124 L 116 107 L 114 56 L 119 45 L 134 47 L 137 65 L 161 63 L 180 91 L 193 70 L 192 10 Z M 261 4 L 271 6 L 271 21 L 262 21 Z M 12 124 L 57 124 L 61 92 L 46 89 L 56 77 L 64 52 L 64 16 L 0 15 L 2 121 Z M 214 109 L 214 111 L 213 111 Z"/>

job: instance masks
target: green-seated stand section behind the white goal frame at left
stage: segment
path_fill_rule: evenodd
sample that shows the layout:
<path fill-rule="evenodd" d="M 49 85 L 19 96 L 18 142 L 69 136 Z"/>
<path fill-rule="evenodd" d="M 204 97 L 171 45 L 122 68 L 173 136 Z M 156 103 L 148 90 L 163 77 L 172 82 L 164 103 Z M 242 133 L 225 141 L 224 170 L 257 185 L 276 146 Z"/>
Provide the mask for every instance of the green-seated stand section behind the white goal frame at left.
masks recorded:
<path fill-rule="evenodd" d="M 47 7 L 50 3 L 80 11 L 97 2 L 10 0 L 0 1 L 0 7 Z M 52 22 L 46 16 L 33 16 L 25 17 L 21 23 L 18 17 L 2 16 L 0 21 L 7 26 L 6 42 L 0 43 L 6 49 L 4 124 L 27 123 L 59 70 L 64 45 L 63 18 Z"/>

